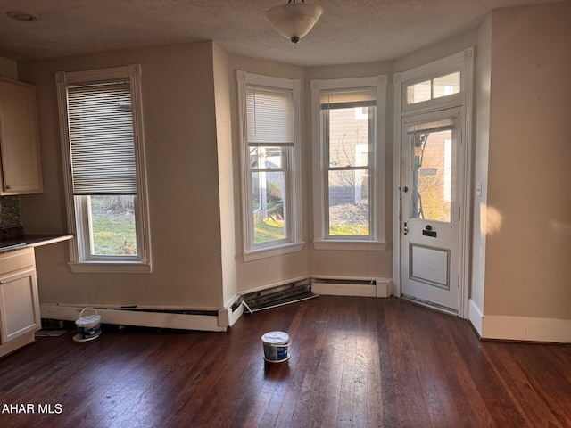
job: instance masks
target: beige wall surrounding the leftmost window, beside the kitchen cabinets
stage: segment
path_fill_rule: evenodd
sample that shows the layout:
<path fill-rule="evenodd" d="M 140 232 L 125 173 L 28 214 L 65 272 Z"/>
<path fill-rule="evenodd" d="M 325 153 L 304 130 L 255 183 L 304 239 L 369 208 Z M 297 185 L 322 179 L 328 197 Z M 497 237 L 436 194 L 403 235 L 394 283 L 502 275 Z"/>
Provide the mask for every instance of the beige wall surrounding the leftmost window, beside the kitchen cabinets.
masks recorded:
<path fill-rule="evenodd" d="M 42 247 L 43 303 L 223 304 L 217 138 L 223 145 L 228 136 L 217 128 L 212 49 L 203 42 L 19 62 L 21 80 L 37 86 L 45 184 L 45 193 L 21 197 L 27 233 L 66 230 L 55 72 L 142 65 L 153 274 L 71 274 L 65 243 Z"/>

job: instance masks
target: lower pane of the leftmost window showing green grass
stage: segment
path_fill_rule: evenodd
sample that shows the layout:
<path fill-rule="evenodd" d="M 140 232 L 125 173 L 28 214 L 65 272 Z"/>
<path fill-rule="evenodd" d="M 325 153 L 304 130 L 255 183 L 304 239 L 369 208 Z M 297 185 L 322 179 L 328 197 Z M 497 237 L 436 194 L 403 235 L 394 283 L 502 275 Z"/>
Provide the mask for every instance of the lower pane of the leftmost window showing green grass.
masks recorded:
<path fill-rule="evenodd" d="M 95 256 L 137 256 L 135 196 L 90 198 L 91 243 Z"/>

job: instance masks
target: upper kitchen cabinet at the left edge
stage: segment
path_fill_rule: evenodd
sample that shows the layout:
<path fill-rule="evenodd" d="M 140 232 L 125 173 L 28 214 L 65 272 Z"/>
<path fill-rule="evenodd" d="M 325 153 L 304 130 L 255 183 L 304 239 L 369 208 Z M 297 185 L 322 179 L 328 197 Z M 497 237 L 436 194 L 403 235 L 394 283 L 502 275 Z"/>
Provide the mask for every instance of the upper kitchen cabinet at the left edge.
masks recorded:
<path fill-rule="evenodd" d="M 0 78 L 0 195 L 42 193 L 34 86 Z"/>

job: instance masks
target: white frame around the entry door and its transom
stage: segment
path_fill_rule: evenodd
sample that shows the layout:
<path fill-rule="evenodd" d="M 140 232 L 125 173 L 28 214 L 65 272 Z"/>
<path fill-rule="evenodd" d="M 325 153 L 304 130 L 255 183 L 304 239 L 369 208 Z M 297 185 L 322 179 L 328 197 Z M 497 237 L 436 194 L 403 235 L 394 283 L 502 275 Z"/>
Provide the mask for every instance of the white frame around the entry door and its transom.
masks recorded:
<path fill-rule="evenodd" d="M 468 287 L 470 280 L 470 248 L 472 217 L 472 114 L 473 114 L 473 73 L 474 47 L 460 53 L 429 62 L 412 70 L 395 73 L 394 84 L 394 124 L 393 124 L 393 293 L 401 297 L 401 120 L 408 114 L 442 110 L 447 107 L 462 108 L 462 164 L 464 171 L 463 188 L 460 190 L 460 245 L 459 245 L 459 310 L 460 318 L 468 318 Z M 414 111 L 403 111 L 402 88 L 406 83 L 421 81 L 423 78 L 442 76 L 447 70 L 460 70 L 460 96 L 448 101 L 446 97 L 434 102 L 418 105 Z"/>

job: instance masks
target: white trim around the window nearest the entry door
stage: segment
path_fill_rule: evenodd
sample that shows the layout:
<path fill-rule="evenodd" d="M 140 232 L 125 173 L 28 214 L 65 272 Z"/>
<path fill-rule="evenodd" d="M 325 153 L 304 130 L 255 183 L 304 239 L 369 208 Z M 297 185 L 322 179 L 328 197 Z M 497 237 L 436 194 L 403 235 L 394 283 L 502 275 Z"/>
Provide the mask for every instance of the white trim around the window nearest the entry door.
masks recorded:
<path fill-rule="evenodd" d="M 313 140 L 313 247 L 316 250 L 377 250 L 386 249 L 385 238 L 385 151 L 386 151 L 386 75 L 368 78 L 338 78 L 311 80 L 311 136 Z M 369 177 L 371 188 L 369 201 L 374 201 L 371 214 L 371 236 L 367 239 L 355 237 L 325 237 L 325 193 L 323 178 L 325 168 L 324 150 L 321 139 L 321 91 L 327 89 L 349 89 L 353 87 L 377 86 L 377 144 Z"/>

